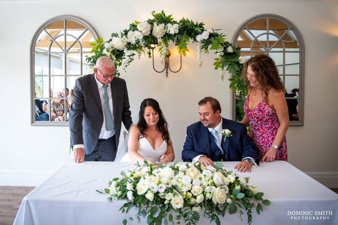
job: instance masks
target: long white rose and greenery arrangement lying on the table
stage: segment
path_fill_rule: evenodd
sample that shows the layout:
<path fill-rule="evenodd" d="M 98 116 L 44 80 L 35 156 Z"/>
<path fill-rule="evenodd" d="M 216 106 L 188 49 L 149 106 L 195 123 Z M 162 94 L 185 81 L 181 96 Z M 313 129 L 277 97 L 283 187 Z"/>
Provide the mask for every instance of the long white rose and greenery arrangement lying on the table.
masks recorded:
<path fill-rule="evenodd" d="M 174 212 L 177 224 L 181 220 L 186 225 L 196 225 L 203 213 L 210 222 L 220 225 L 220 215 L 238 210 L 240 219 L 246 212 L 251 224 L 252 209 L 256 207 L 259 214 L 262 205 L 270 204 L 256 186 L 248 185 L 249 178 L 227 171 L 220 162 L 206 167 L 200 163 L 154 165 L 145 161 L 145 165 L 137 164 L 121 175 L 109 181 L 110 188 L 104 193 L 110 195 L 109 201 L 128 199 L 120 210 L 127 214 L 137 207 L 136 219 L 140 222 L 141 216 L 146 217 L 148 225 L 174 225 Z M 126 224 L 124 219 L 123 225 Z"/>

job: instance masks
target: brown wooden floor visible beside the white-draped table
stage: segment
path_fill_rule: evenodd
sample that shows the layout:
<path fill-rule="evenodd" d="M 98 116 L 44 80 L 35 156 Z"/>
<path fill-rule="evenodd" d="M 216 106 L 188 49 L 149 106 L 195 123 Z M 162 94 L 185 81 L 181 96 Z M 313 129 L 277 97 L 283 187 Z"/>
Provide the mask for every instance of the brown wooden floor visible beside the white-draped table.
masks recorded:
<path fill-rule="evenodd" d="M 0 225 L 13 225 L 22 198 L 34 187 L 0 186 Z M 338 194 L 338 188 L 331 188 Z"/>

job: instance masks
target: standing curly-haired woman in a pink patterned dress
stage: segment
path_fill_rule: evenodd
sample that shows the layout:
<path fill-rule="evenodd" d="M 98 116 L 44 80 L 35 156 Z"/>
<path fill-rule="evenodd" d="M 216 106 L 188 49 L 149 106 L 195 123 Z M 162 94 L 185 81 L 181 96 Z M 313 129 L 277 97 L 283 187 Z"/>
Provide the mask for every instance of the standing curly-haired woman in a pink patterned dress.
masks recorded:
<path fill-rule="evenodd" d="M 245 63 L 242 76 L 249 90 L 242 123 L 250 124 L 249 135 L 257 144 L 261 162 L 288 161 L 286 90 L 274 60 L 258 54 Z"/>

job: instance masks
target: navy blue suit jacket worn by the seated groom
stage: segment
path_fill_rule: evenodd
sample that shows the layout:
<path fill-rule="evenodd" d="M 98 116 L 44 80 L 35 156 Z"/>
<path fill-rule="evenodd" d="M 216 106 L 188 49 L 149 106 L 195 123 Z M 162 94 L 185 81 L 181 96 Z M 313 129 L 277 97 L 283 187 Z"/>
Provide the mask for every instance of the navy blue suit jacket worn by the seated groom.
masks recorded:
<path fill-rule="evenodd" d="M 241 161 L 252 157 L 259 164 L 259 150 L 246 133 L 243 123 L 222 118 L 222 129 L 229 129 L 231 137 L 222 136 L 222 151 L 217 147 L 207 127 L 200 121 L 187 128 L 187 138 L 182 150 L 182 160 L 191 162 L 198 155 L 205 155 L 212 161 Z"/>

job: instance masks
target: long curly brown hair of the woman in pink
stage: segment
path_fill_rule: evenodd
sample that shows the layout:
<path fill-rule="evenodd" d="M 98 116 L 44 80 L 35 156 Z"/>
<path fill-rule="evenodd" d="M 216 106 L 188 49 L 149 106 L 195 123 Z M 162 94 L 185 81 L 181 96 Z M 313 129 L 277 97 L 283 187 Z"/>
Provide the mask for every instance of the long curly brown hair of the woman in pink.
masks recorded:
<path fill-rule="evenodd" d="M 263 98 L 266 102 L 268 102 L 268 91 L 271 88 L 277 91 L 283 91 L 284 93 L 286 92 L 274 60 L 265 54 L 257 54 L 245 62 L 242 70 L 242 79 L 247 90 L 251 91 L 253 89 L 246 76 L 249 65 L 256 74 L 256 79 L 261 86 Z"/>

